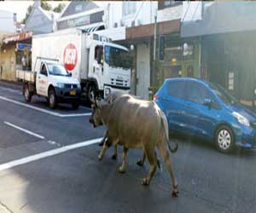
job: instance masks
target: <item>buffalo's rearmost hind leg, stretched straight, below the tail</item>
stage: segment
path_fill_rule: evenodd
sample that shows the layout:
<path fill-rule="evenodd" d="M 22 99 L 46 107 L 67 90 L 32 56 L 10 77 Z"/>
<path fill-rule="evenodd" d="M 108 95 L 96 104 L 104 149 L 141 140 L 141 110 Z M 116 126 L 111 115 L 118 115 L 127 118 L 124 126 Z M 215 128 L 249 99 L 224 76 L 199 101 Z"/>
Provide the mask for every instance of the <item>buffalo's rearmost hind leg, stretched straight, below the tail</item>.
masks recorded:
<path fill-rule="evenodd" d="M 176 182 L 173 170 L 172 170 L 172 160 L 170 157 L 170 153 L 167 151 L 164 141 L 159 141 L 157 143 L 157 147 L 160 151 L 160 154 L 166 164 L 167 170 L 172 179 L 172 197 L 177 197 L 177 193 L 178 193 L 177 192 L 177 182 Z"/>

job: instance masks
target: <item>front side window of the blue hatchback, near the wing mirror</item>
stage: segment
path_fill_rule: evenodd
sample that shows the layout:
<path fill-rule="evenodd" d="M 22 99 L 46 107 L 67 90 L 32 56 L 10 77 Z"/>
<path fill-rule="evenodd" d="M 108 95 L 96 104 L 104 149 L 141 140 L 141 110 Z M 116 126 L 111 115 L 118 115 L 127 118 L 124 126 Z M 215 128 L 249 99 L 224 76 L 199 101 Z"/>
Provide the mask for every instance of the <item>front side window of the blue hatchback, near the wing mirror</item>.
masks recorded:
<path fill-rule="evenodd" d="M 204 104 L 205 99 L 212 99 L 212 95 L 209 93 L 208 89 L 197 82 L 188 82 L 186 91 L 186 99 L 188 101 L 193 101 L 195 103 Z"/>

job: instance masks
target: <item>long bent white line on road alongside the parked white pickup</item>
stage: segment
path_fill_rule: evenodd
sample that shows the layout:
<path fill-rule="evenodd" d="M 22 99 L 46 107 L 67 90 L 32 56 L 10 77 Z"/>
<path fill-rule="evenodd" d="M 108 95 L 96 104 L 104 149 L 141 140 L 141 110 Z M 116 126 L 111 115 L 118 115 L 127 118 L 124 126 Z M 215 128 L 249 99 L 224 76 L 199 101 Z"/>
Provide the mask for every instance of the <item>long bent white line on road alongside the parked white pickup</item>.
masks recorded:
<path fill-rule="evenodd" d="M 48 114 L 50 114 L 50 115 L 54 115 L 54 116 L 60 117 L 60 118 L 81 117 L 81 116 L 90 116 L 90 115 L 91 115 L 90 112 L 88 112 L 88 113 L 78 113 L 78 114 L 61 114 L 61 113 L 58 113 L 58 112 L 51 112 L 51 111 L 49 111 L 49 110 L 42 109 L 42 108 L 39 108 L 39 107 L 34 107 L 34 106 L 32 106 L 32 105 L 25 104 L 25 103 L 22 103 L 22 102 L 20 102 L 20 101 L 15 101 L 15 100 L 12 100 L 12 99 L 3 97 L 3 96 L 0 96 L 0 99 L 3 100 L 3 101 L 9 101 L 9 102 L 11 102 L 11 103 L 20 105 L 20 106 L 22 106 L 22 107 L 27 107 L 27 108 L 30 108 L 30 109 L 34 109 L 34 110 L 37 110 L 37 111 L 39 111 L 39 112 L 48 113 Z"/>

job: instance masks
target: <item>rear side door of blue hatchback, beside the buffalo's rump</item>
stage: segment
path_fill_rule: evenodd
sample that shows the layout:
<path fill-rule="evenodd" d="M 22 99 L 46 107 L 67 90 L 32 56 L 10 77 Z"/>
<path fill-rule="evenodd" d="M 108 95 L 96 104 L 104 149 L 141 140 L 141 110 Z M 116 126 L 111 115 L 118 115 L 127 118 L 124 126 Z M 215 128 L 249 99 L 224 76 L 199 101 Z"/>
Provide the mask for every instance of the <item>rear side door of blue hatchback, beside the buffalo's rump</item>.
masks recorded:
<path fill-rule="evenodd" d="M 186 110 L 185 96 L 186 81 L 172 80 L 166 83 L 166 91 L 161 95 L 160 102 L 168 120 L 169 129 L 177 131 L 188 131 L 188 113 Z"/>

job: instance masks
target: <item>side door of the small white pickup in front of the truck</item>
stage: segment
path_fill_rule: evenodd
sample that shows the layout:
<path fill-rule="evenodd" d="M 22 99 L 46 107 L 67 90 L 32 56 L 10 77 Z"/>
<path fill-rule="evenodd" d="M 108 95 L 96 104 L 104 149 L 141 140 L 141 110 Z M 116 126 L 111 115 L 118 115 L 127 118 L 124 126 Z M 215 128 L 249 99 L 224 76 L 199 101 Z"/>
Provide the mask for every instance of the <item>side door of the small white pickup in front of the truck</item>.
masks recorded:
<path fill-rule="evenodd" d="M 37 75 L 36 88 L 38 95 L 48 95 L 48 72 L 45 63 L 42 63 L 40 66 L 40 71 Z"/>

